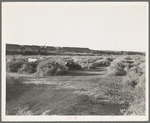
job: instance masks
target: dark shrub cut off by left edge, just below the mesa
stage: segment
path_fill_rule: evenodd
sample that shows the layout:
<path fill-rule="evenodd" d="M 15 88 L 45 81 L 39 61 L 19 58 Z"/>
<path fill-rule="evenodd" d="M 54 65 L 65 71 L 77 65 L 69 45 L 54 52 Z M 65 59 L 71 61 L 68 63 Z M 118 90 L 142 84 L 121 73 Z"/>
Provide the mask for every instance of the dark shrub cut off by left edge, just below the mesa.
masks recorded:
<path fill-rule="evenodd" d="M 23 62 L 7 62 L 6 71 L 17 72 L 19 68 L 23 65 Z"/>

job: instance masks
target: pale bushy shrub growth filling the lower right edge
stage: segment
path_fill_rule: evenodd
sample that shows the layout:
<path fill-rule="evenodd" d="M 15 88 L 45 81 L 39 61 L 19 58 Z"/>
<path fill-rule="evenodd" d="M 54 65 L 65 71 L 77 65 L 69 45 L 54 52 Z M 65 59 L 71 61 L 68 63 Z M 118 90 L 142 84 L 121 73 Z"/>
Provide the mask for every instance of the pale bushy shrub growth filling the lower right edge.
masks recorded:
<path fill-rule="evenodd" d="M 145 72 L 139 70 L 144 69 L 145 63 L 141 63 L 139 66 L 131 68 L 128 75 L 124 78 L 125 85 L 130 85 L 132 93 L 134 94 L 134 100 L 130 102 L 130 106 L 127 109 L 125 115 L 145 115 Z M 127 87 L 127 86 L 126 86 Z"/>

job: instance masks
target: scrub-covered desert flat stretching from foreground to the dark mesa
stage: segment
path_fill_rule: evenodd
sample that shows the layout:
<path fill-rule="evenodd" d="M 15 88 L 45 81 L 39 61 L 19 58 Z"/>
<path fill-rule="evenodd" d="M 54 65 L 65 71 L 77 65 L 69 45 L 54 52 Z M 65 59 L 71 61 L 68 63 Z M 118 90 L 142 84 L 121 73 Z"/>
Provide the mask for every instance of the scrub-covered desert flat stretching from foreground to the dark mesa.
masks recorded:
<path fill-rule="evenodd" d="M 20 69 L 19 72 L 12 72 L 12 68 L 8 69 L 7 77 L 10 79 L 6 82 L 7 115 L 145 115 L 145 78 L 142 78 L 145 76 L 145 68 L 141 67 L 145 63 L 145 56 L 61 57 L 7 56 L 8 65 L 15 61 L 20 63 L 27 58 L 39 60 L 36 72 L 33 73 L 20 73 L 21 70 L 26 72 L 24 69 Z M 126 62 L 129 64 L 125 65 L 132 67 L 124 66 L 122 69 L 124 62 L 120 60 L 121 58 L 127 59 Z M 39 67 L 39 64 L 47 64 L 49 62 L 45 61 L 51 59 L 58 61 L 58 64 L 59 61 L 73 60 L 81 65 L 81 69 L 65 69 L 67 72 L 62 75 L 39 76 L 41 74 L 37 74 L 38 69 L 43 70 L 43 66 Z M 92 63 L 94 67 L 91 67 Z M 114 70 L 115 63 L 122 63 L 118 71 Z M 60 68 L 61 73 L 64 72 L 62 66 L 61 63 L 61 67 L 57 68 Z M 53 70 L 51 67 L 49 69 Z M 130 75 L 135 77 L 132 78 Z M 14 85 L 8 83 L 12 80 Z M 136 112 L 132 106 L 137 110 L 142 108 Z"/>

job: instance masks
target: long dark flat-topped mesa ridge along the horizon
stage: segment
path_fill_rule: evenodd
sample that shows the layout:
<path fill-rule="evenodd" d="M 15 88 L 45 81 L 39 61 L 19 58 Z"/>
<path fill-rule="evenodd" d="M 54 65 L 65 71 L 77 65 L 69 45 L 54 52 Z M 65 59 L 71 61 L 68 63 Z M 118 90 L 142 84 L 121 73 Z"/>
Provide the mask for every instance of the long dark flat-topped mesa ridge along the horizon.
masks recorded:
<path fill-rule="evenodd" d="M 6 55 L 145 55 L 143 52 L 101 51 L 80 47 L 52 47 L 6 44 Z"/>

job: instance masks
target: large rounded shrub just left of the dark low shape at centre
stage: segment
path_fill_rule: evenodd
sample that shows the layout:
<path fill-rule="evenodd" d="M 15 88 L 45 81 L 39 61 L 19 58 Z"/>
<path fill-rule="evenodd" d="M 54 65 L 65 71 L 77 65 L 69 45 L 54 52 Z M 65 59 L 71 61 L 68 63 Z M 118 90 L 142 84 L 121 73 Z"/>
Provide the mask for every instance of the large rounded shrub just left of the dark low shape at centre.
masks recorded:
<path fill-rule="evenodd" d="M 37 66 L 37 76 L 54 76 L 68 73 L 68 68 L 55 61 L 42 61 Z"/>

